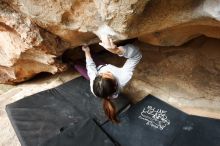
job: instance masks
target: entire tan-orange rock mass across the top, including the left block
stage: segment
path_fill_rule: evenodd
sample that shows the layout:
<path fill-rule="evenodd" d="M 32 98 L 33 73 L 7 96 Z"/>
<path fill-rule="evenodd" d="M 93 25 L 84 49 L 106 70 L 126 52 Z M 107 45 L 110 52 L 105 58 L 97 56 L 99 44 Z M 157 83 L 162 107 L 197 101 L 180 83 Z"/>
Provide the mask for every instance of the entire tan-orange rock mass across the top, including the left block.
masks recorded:
<path fill-rule="evenodd" d="M 101 35 L 157 46 L 180 46 L 201 35 L 220 38 L 216 0 L 1 0 L 0 11 L 2 83 L 63 70 L 56 57 L 97 43 Z"/>

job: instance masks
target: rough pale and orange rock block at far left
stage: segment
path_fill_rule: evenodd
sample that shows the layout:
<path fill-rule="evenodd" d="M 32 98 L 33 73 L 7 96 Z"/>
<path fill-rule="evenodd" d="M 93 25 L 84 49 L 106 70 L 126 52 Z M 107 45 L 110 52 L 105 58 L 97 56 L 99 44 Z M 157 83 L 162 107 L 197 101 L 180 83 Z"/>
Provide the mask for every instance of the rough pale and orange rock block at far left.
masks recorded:
<path fill-rule="evenodd" d="M 0 82 L 27 80 L 40 72 L 56 73 L 55 61 L 69 46 L 0 1 Z"/>

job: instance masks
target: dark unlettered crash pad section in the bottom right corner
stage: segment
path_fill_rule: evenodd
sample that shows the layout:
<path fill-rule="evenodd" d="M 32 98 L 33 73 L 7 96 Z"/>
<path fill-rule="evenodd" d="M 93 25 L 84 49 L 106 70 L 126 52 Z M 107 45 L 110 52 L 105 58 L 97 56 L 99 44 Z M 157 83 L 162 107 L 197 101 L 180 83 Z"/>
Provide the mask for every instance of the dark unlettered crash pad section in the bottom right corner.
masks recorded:
<path fill-rule="evenodd" d="M 220 120 L 189 116 L 171 146 L 220 146 Z"/>

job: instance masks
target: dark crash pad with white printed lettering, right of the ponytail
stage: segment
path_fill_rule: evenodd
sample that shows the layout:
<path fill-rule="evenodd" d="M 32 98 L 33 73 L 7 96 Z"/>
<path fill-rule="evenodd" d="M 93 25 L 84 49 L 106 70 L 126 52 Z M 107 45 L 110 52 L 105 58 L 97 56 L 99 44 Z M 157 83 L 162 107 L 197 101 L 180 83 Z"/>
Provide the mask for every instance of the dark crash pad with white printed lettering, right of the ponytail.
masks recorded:
<path fill-rule="evenodd" d="M 220 120 L 191 116 L 149 95 L 102 128 L 122 146 L 220 146 Z"/>

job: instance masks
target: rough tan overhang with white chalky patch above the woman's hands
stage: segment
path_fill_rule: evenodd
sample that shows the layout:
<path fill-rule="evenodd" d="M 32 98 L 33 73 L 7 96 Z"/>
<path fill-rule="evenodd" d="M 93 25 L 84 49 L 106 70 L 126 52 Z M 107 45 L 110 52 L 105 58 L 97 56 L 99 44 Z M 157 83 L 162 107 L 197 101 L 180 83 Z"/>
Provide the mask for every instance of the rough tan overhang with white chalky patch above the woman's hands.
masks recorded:
<path fill-rule="evenodd" d="M 144 10 L 147 0 L 12 0 L 6 1 L 39 26 L 74 46 L 97 42 L 94 33 L 126 39 L 134 16 Z M 129 32 L 129 31 L 128 31 Z"/>

